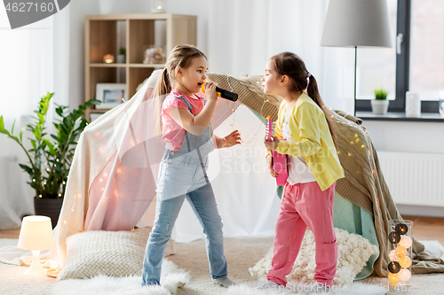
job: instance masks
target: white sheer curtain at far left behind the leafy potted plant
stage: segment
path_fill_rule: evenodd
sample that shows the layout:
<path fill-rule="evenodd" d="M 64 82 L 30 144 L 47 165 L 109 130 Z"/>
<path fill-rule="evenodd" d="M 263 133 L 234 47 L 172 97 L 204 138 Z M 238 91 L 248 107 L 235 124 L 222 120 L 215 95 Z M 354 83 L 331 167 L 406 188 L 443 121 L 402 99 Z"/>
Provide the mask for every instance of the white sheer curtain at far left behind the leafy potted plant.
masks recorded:
<path fill-rule="evenodd" d="M 64 87 L 63 70 L 58 67 L 59 76 L 55 78 L 54 62 L 61 54 L 58 46 L 67 40 L 60 38 L 64 27 L 60 24 L 66 21 L 55 15 L 12 30 L 4 6 L 0 8 L 0 56 L 3 57 L 0 67 L 0 114 L 8 130 L 11 130 L 15 120 L 15 136 L 20 134 L 21 128 L 26 128 L 27 124 L 34 121 L 31 116 L 35 115 L 33 112 L 40 97 Z M 58 86 L 55 87 L 55 84 Z M 57 102 L 56 97 L 53 99 Z M 48 114 L 46 127 L 50 132 L 53 107 Z M 24 132 L 27 148 L 30 147 L 28 139 L 25 139 L 28 136 L 28 132 Z M 28 163 L 24 151 L 3 134 L 0 135 L 0 146 L 0 229 L 15 229 L 20 226 L 24 214 L 34 213 L 35 192 L 26 183 L 29 181 L 28 174 L 18 165 Z"/>

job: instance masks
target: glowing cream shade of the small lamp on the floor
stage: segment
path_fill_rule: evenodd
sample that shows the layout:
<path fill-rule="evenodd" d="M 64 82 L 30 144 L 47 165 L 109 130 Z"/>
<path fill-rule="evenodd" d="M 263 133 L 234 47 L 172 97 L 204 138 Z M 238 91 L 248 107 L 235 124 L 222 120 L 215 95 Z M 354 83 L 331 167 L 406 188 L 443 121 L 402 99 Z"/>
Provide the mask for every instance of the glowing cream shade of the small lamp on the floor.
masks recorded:
<path fill-rule="evenodd" d="M 55 245 L 51 218 L 39 215 L 23 217 L 17 246 L 29 251 L 52 249 Z"/>

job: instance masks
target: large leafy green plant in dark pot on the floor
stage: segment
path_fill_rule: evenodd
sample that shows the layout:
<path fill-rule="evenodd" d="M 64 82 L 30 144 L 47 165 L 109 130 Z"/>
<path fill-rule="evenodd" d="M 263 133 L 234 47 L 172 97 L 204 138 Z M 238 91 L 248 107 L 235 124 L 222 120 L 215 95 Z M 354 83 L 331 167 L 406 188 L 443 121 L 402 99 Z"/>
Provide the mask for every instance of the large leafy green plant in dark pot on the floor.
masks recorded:
<path fill-rule="evenodd" d="M 52 134 L 50 140 L 44 124 L 53 95 L 48 92 L 41 98 L 38 109 L 34 111 L 36 116 L 33 116 L 33 119 L 36 121 L 26 127 L 32 136 L 28 137 L 30 148 L 27 149 L 23 141 L 25 128 L 20 131 L 19 136 L 14 136 L 15 120 L 10 132 L 4 128 L 4 119 L 0 116 L 0 133 L 14 140 L 25 151 L 28 164 L 19 165 L 28 173 L 28 184 L 36 191 L 34 198 L 36 214 L 51 217 L 52 227 L 55 227 L 67 186 L 67 174 L 74 157 L 77 136 L 88 124 L 83 119 L 83 113 L 90 105 L 99 105 L 100 101 L 89 100 L 72 112 L 67 111 L 67 106 L 56 104 L 55 111 L 60 118 L 53 123 L 57 133 Z"/>

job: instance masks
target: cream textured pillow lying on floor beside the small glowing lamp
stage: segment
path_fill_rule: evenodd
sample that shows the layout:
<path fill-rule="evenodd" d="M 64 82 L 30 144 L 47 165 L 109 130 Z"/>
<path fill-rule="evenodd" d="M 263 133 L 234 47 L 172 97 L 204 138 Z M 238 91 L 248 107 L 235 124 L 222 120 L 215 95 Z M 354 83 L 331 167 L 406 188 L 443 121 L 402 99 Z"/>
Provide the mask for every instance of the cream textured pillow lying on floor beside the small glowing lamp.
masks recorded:
<path fill-rule="evenodd" d="M 133 231 L 84 231 L 67 237 L 67 260 L 58 280 L 141 276 L 150 227 Z"/>

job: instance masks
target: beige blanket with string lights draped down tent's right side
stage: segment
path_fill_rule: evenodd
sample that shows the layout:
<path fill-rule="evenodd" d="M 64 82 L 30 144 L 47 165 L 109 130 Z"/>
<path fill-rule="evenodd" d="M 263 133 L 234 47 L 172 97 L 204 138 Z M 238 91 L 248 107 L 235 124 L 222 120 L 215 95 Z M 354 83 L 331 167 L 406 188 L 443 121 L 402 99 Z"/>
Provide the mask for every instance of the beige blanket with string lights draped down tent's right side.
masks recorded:
<path fill-rule="evenodd" d="M 362 120 L 342 112 L 335 113 L 339 159 L 345 178 L 336 190 L 344 198 L 373 214 L 381 253 L 373 265 L 378 276 L 387 276 L 388 228 L 390 220 L 402 220 L 379 167 L 377 151 Z M 424 252 L 424 245 L 413 238 L 413 274 L 444 272 L 444 261 Z"/>

